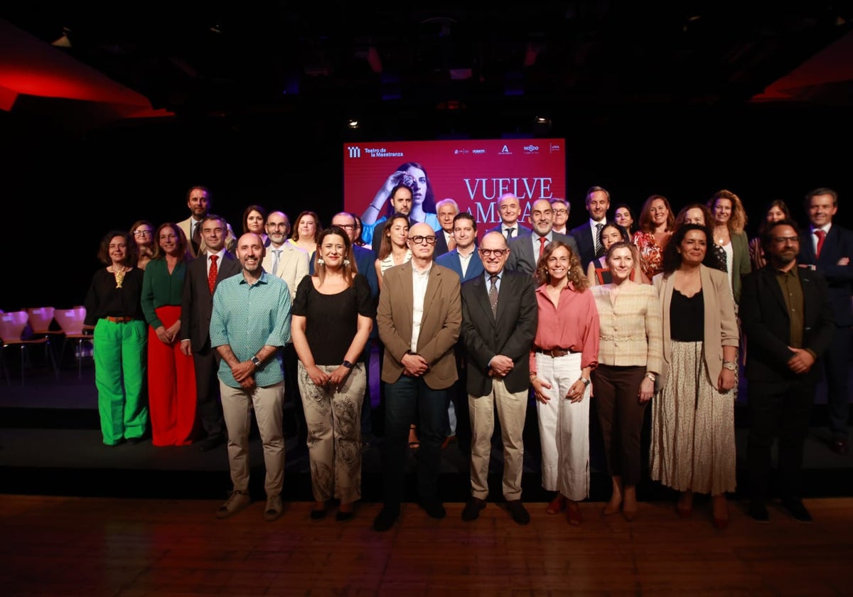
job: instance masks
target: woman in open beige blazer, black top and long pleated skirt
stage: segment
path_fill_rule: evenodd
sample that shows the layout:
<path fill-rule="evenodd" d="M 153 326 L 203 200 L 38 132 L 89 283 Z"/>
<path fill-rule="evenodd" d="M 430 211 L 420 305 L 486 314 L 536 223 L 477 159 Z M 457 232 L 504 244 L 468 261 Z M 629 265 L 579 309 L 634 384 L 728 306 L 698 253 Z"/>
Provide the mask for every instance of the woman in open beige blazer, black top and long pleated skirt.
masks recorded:
<path fill-rule="evenodd" d="M 654 276 L 664 322 L 664 367 L 653 401 L 652 478 L 681 491 L 677 513 L 693 511 L 693 492 L 711 494 L 713 520 L 728 526 L 726 492 L 735 487 L 734 388 L 738 326 L 727 276 L 713 267 L 711 230 L 676 229 Z M 705 263 L 703 263 L 705 262 Z"/>

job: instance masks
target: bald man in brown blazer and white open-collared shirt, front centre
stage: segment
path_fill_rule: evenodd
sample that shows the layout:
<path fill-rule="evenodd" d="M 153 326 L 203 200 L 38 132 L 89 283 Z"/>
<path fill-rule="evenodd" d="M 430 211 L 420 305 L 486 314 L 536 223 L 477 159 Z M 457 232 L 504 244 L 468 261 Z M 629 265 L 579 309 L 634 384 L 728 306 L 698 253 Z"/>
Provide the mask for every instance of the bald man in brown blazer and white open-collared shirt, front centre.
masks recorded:
<path fill-rule="evenodd" d="M 435 231 L 427 223 L 409 229 L 412 259 L 386 270 L 376 322 L 385 345 L 385 504 L 374 530 L 389 530 L 400 514 L 409 424 L 418 421 L 418 498 L 433 519 L 443 519 L 438 467 L 444 441 L 447 391 L 456 381 L 453 347 L 462 310 L 459 276 L 432 262 Z"/>

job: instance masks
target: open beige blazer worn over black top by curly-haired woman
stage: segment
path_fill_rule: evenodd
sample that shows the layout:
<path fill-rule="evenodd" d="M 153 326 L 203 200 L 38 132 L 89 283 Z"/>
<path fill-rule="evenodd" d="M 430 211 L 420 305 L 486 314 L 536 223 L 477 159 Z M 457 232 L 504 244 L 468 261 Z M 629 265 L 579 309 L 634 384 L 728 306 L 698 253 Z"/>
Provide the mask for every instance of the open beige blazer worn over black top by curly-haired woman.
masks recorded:
<path fill-rule="evenodd" d="M 699 275 L 702 280 L 702 298 L 705 302 L 703 352 L 705 366 L 710 376 L 707 381 L 716 386 L 722 371 L 722 347 L 739 344 L 738 322 L 734 316 L 734 300 L 728 288 L 728 276 L 722 271 L 706 268 L 705 265 L 699 265 Z M 664 320 L 664 370 L 660 372 L 659 384 L 659 387 L 663 387 L 666 385 L 666 375 L 669 373 L 672 361 L 670 304 L 672 304 L 675 275 L 668 277 L 664 277 L 664 274 L 655 275 L 652 284 L 658 291 L 661 315 Z"/>

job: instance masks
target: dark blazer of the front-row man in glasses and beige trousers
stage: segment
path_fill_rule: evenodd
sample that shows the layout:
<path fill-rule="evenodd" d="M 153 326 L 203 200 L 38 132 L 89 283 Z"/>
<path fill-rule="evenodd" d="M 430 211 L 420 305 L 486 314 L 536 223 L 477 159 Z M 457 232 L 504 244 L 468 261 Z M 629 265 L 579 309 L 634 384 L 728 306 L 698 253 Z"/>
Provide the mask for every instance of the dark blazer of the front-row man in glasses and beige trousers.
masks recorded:
<path fill-rule="evenodd" d="M 462 284 L 461 339 L 468 362 L 468 394 L 490 393 L 489 362 L 495 355 L 508 356 L 515 363 L 503 380 L 508 391 L 530 387 L 530 351 L 539 322 L 535 289 L 530 275 L 504 269 L 493 316 L 485 275 Z"/>

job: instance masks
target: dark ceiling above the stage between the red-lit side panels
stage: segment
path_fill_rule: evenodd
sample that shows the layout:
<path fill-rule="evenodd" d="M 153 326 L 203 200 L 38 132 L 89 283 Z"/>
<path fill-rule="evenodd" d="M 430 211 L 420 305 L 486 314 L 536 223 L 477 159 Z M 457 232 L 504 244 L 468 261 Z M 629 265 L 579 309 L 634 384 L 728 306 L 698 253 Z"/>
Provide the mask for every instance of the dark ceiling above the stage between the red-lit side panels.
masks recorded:
<path fill-rule="evenodd" d="M 821 0 L 95 4 L 3 12 L 47 43 L 66 28 L 63 51 L 188 117 L 743 104 L 853 19 Z M 786 99 L 850 103 L 844 76 Z"/>

